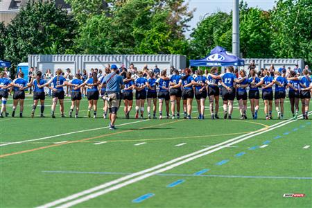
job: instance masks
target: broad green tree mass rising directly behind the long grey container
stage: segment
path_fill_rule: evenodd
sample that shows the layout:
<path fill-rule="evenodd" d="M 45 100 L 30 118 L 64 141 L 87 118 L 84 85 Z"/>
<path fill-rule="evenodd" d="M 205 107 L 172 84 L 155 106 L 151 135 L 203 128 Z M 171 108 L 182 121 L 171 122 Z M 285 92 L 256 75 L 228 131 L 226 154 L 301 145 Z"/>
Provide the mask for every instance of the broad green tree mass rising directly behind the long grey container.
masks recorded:
<path fill-rule="evenodd" d="M 80 8 L 86 1 L 69 3 Z M 101 10 L 74 9 L 76 19 L 89 17 L 80 24 L 76 38 L 79 53 L 185 53 L 184 31 L 192 12 L 187 11 L 184 0 L 106 2 L 109 4 Z"/>

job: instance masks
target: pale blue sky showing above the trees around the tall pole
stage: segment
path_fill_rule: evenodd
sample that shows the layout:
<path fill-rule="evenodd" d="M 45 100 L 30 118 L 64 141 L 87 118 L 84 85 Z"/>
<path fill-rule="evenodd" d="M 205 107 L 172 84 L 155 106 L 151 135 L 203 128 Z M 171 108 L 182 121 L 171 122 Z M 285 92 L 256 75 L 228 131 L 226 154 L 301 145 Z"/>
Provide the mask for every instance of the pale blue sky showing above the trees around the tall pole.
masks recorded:
<path fill-rule="evenodd" d="M 275 0 L 244 0 L 248 3 L 248 7 L 258 7 L 262 10 L 270 10 L 275 6 Z M 193 13 L 194 17 L 189 22 L 191 28 L 196 27 L 196 24 L 206 14 L 211 14 L 218 11 L 230 12 L 233 8 L 233 0 L 187 0 L 189 2 L 189 10 L 196 8 Z M 186 35 L 189 37 L 191 31 Z"/>

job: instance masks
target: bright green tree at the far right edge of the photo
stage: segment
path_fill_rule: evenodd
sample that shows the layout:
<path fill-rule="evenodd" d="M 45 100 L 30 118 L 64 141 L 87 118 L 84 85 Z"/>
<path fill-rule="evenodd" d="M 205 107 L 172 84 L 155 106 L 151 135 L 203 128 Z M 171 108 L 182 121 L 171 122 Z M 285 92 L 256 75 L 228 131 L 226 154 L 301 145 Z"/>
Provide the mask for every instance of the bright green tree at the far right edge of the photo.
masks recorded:
<path fill-rule="evenodd" d="M 277 58 L 304 58 L 312 64 L 312 2 L 279 0 L 272 11 L 272 45 Z"/>

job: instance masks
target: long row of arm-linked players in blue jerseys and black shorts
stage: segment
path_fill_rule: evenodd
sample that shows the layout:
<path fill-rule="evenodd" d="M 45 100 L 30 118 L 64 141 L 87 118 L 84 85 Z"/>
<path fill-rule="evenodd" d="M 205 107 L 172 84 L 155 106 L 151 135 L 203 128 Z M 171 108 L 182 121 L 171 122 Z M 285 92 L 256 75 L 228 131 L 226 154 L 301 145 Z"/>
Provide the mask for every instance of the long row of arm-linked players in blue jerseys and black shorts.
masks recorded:
<path fill-rule="evenodd" d="M 112 65 L 116 67 L 116 65 Z M 203 75 L 201 70 L 193 74 L 191 69 L 178 71 L 174 69 L 170 76 L 163 70 L 159 76 L 153 71 L 144 76 L 143 71 L 137 72 L 135 76 L 128 71 L 122 80 L 121 92 L 118 93 L 119 99 L 123 100 L 123 112 L 125 118 L 130 118 L 133 99 L 135 96 L 135 118 L 143 119 L 144 110 L 147 104 L 148 119 L 180 119 L 180 107 L 182 101 L 182 110 L 184 119 L 191 119 L 193 98 L 195 97 L 198 110 L 198 119 L 205 119 L 205 101 L 209 99 L 209 110 L 211 119 L 219 119 L 219 97 L 223 99 L 223 118 L 232 119 L 233 102 L 235 98 L 239 102 L 239 112 L 241 119 L 248 119 L 247 108 L 248 99 L 250 100 L 250 110 L 252 119 L 258 118 L 260 90 L 264 101 L 264 113 L 266 119 L 272 119 L 273 100 L 277 118 L 283 119 L 284 100 L 286 98 L 286 89 L 288 89 L 288 98 L 291 103 L 291 112 L 294 119 L 299 114 L 299 103 L 302 102 L 302 115 L 308 119 L 309 103 L 311 98 L 312 82 L 309 71 L 304 69 L 302 76 L 291 71 L 286 75 L 286 71 L 275 71 L 274 76 L 270 75 L 268 70 L 263 71 L 263 76 L 259 78 L 256 71 L 251 69 L 249 76 L 244 70 L 239 71 L 239 77 L 234 75 L 234 67 L 227 67 L 225 73 L 218 73 L 217 67 L 212 67 L 210 73 Z M 116 70 L 118 75 L 119 71 Z M 55 107 L 60 104 L 60 114 L 64 117 L 64 87 L 71 88 L 71 107 L 69 116 L 78 118 L 80 101 L 83 98 L 83 89 L 87 89 L 88 111 L 87 116 L 91 117 L 93 108 L 93 117 L 96 118 L 98 99 L 103 103 L 103 117 L 107 117 L 109 106 L 112 105 L 112 99 L 107 96 L 106 85 L 110 79 L 105 79 L 106 74 L 98 78 L 98 74 L 93 72 L 87 80 L 83 81 L 81 74 L 76 73 L 73 80 L 67 80 L 62 76 L 62 70 L 58 69 L 55 76 L 50 80 L 42 78 L 42 72 L 37 71 L 35 76 L 28 83 L 24 79 L 24 73 L 19 72 L 17 78 L 11 81 L 6 72 L 0 73 L 0 98 L 1 114 L 8 116 L 6 103 L 8 101 L 8 92 L 12 88 L 13 107 L 12 116 L 15 116 L 17 105 L 19 105 L 19 116 L 23 116 L 25 90 L 33 87 L 33 108 L 31 117 L 35 116 L 35 110 L 40 101 L 40 116 L 44 117 L 44 101 L 46 93 L 44 88 L 52 90 L 51 116 L 55 118 Z M 275 88 L 274 96 L 273 90 Z M 248 90 L 249 89 L 249 90 Z M 158 101 L 158 115 L 157 115 Z M 120 108 L 120 102 L 118 108 Z M 163 115 L 163 108 L 166 108 L 166 114 Z M 73 112 L 75 111 L 75 114 Z"/>

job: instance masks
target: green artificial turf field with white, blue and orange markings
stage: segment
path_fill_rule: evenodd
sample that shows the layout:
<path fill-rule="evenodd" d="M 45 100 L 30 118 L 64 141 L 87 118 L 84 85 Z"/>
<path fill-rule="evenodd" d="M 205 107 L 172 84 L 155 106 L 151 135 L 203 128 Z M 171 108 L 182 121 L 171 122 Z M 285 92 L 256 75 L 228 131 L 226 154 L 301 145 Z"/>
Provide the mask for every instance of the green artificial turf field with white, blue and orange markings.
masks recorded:
<path fill-rule="evenodd" d="M 124 119 L 120 110 L 116 131 L 102 102 L 97 119 L 84 117 L 86 100 L 79 119 L 51 119 L 46 103 L 46 118 L 40 107 L 30 118 L 28 97 L 24 118 L 0 119 L 0 207 L 312 205 L 311 120 L 291 119 L 289 103 L 284 120 L 269 121 L 262 101 L 257 120 L 239 119 L 237 103 L 233 120 Z"/>

